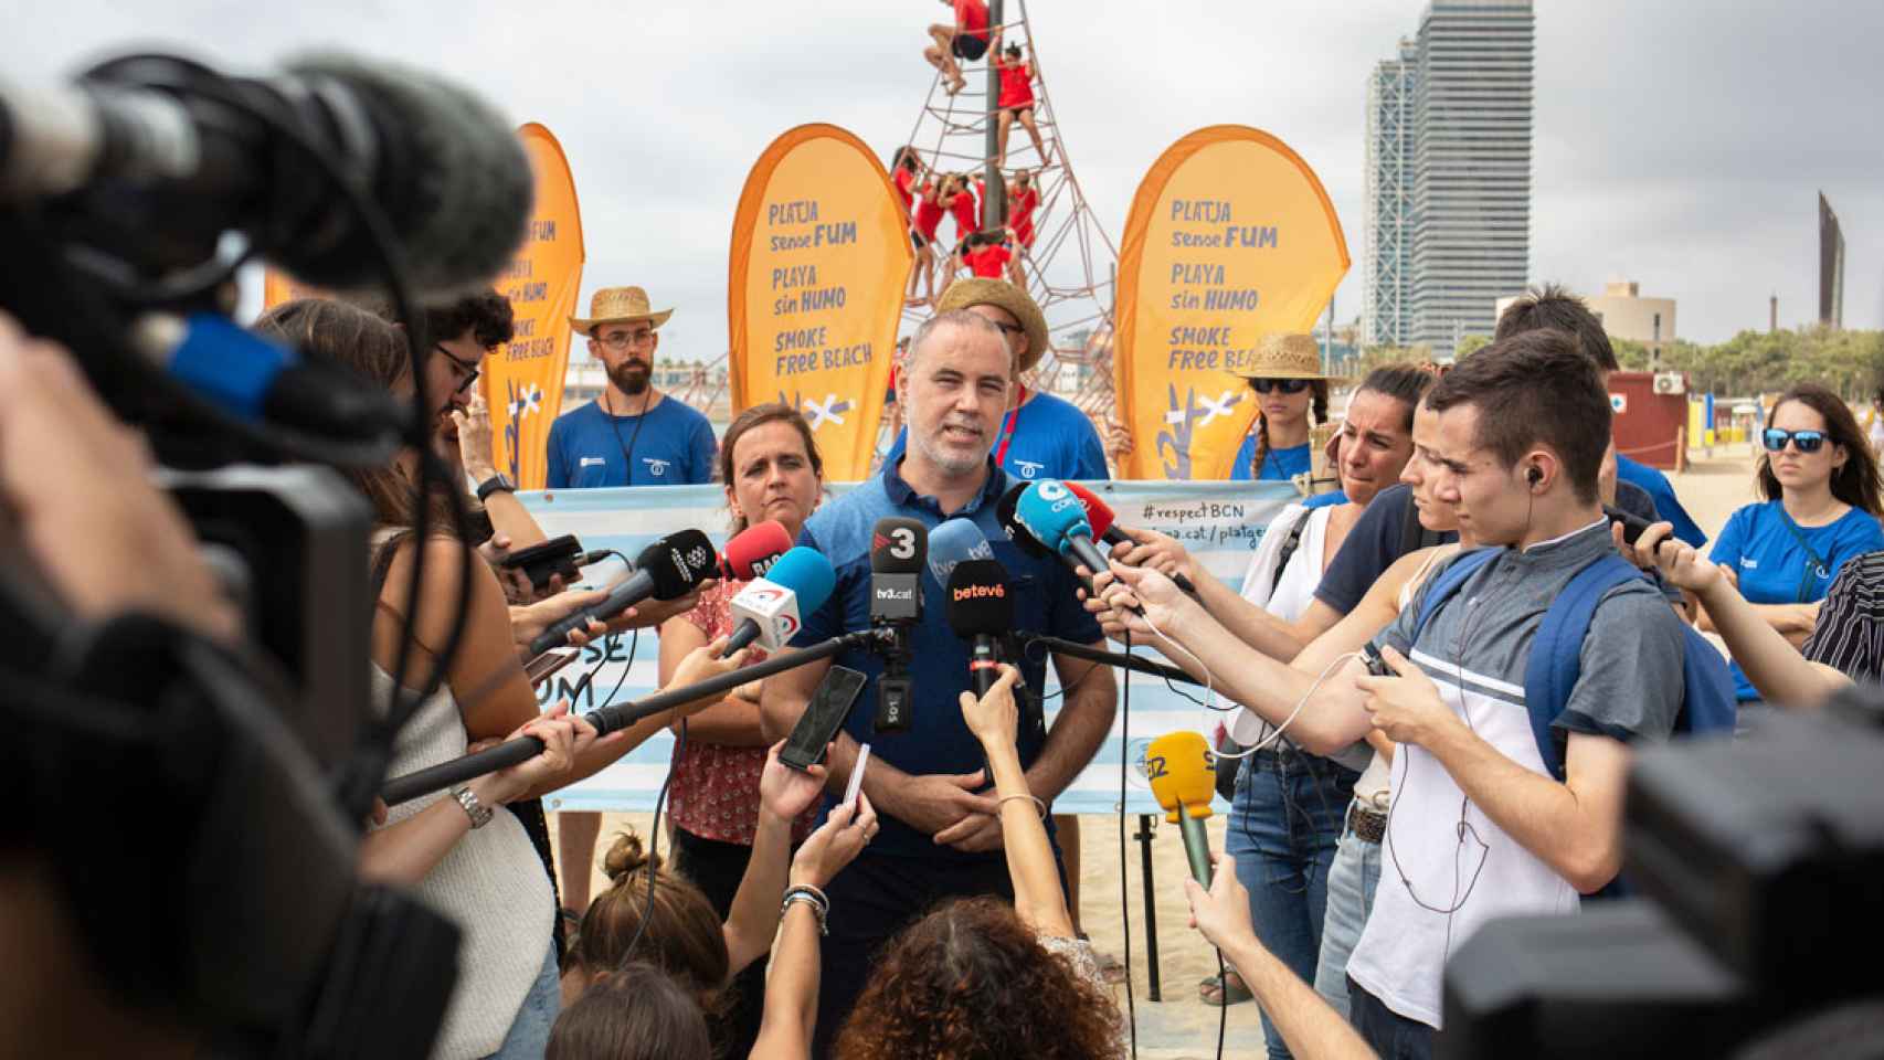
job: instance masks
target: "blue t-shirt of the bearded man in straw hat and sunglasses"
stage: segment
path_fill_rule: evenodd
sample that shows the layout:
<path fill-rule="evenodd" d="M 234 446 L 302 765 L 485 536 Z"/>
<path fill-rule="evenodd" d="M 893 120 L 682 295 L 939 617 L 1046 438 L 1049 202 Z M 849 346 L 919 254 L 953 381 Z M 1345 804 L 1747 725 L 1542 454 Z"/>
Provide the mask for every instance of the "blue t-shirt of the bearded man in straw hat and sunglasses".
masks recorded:
<path fill-rule="evenodd" d="M 646 416 L 610 416 L 599 401 L 563 412 L 548 450 L 550 490 L 595 490 L 712 482 L 718 444 L 706 416 L 663 395 Z"/>

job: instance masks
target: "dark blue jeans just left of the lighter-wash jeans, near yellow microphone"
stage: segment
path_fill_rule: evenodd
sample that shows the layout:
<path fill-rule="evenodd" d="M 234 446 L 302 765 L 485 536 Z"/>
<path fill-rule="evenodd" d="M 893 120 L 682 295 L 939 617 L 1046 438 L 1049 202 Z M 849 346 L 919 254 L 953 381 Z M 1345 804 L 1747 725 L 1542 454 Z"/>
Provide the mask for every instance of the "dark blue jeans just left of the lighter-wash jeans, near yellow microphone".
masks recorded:
<path fill-rule="evenodd" d="M 1236 774 L 1225 849 L 1249 891 L 1257 938 L 1304 983 L 1315 981 L 1328 866 L 1356 779 L 1355 770 L 1296 749 L 1259 751 Z M 1289 1060 L 1268 1015 L 1262 1037 L 1270 1060 Z"/>

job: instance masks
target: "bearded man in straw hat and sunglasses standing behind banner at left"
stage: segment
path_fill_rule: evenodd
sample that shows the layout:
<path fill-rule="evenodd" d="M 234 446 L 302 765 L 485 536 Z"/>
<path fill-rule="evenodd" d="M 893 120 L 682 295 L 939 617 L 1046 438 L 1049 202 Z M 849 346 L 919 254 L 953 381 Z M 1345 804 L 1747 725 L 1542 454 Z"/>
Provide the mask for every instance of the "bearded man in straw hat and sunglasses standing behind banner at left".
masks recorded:
<path fill-rule="evenodd" d="M 650 309 L 639 286 L 605 286 L 590 297 L 586 318 L 569 318 L 588 335 L 609 388 L 550 426 L 550 490 L 712 482 L 716 446 L 706 416 L 654 386 L 659 328 L 673 313 Z"/>

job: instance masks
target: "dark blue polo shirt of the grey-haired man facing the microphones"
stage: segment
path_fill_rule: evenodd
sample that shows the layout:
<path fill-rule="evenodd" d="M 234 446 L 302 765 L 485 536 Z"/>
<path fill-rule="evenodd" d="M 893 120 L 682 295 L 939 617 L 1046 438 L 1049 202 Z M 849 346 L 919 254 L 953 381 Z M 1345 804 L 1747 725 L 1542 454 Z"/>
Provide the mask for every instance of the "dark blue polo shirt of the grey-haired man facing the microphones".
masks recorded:
<path fill-rule="evenodd" d="M 1008 476 L 989 459 L 987 486 L 953 518 L 974 520 L 974 525 L 995 548 L 995 559 L 1008 570 L 1014 589 L 1014 629 L 1046 633 L 1093 644 L 1102 638 L 1098 623 L 1080 606 L 1074 595 L 1072 572 L 1059 557 L 1034 559 L 1023 554 L 1002 533 L 995 508 L 1008 488 Z M 899 474 L 899 465 L 885 465 L 882 474 L 861 482 L 850 493 L 818 508 L 804 523 L 799 544 L 831 557 L 836 569 L 836 587 L 825 604 L 806 616 L 804 627 L 791 640 L 795 648 L 818 644 L 833 636 L 870 627 L 870 529 L 876 520 L 906 516 L 934 527 L 944 520 L 934 497 L 919 497 Z M 959 695 L 970 687 L 968 644 L 948 627 L 942 602 L 944 586 L 927 565 L 921 572 L 923 618 L 910 633 L 912 725 L 902 732 L 876 732 L 876 682 L 884 676 L 884 661 L 872 651 L 844 651 L 833 659 L 869 676 L 865 695 L 850 712 L 844 731 L 859 744 L 870 744 L 870 757 L 882 759 L 912 776 L 970 774 L 982 768 L 982 744 L 961 719 Z M 1023 659 L 1021 674 L 1038 695 L 1046 687 L 1046 659 L 1032 653 Z M 1021 764 L 1040 755 L 1040 738 L 1021 727 Z M 827 798 L 829 804 L 836 795 Z M 938 847 L 929 836 L 902 821 L 884 817 L 882 832 L 870 843 L 870 853 L 893 857 L 923 857 L 942 860 L 993 860 L 1000 851 L 966 855 L 953 847 Z"/>

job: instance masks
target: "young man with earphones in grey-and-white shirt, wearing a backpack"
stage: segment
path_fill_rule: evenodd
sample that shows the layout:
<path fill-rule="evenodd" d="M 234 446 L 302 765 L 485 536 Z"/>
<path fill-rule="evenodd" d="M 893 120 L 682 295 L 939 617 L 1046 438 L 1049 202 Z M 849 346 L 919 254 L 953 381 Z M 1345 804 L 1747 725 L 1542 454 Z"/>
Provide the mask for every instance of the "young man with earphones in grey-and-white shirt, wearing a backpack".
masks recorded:
<path fill-rule="evenodd" d="M 1432 478 L 1434 495 L 1498 552 L 1428 614 L 1451 570 L 1439 567 L 1373 638 L 1375 668 L 1353 659 L 1317 680 L 1249 651 L 1162 574 L 1113 565 L 1096 580 L 1108 623 L 1134 636 L 1155 625 L 1298 746 L 1328 753 L 1372 729 L 1402 746 L 1383 838 L 1394 872 L 1347 966 L 1355 1026 L 1385 1056 L 1430 1054 L 1445 960 L 1481 924 L 1575 911 L 1579 894 L 1616 875 L 1624 742 L 1665 738 L 1682 704 L 1681 619 L 1650 582 L 1630 580 L 1600 599 L 1581 674 L 1551 725 L 1562 781 L 1530 725 L 1524 676 L 1543 614 L 1615 554 L 1598 497 L 1609 397 L 1575 341 L 1498 341 L 1441 378 L 1426 407 L 1437 431 L 1405 476 L 1422 488 Z"/>

